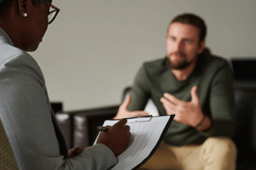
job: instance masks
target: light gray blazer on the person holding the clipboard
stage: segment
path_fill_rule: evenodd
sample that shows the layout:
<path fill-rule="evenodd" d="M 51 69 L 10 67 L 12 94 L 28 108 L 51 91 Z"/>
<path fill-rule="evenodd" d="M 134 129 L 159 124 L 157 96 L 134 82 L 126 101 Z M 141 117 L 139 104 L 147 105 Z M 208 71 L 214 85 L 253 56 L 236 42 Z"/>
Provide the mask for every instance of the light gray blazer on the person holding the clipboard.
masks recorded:
<path fill-rule="evenodd" d="M 96 144 L 67 158 L 67 144 L 49 105 L 44 76 L 0 28 L 0 118 L 19 169 L 108 169 L 113 152 Z"/>

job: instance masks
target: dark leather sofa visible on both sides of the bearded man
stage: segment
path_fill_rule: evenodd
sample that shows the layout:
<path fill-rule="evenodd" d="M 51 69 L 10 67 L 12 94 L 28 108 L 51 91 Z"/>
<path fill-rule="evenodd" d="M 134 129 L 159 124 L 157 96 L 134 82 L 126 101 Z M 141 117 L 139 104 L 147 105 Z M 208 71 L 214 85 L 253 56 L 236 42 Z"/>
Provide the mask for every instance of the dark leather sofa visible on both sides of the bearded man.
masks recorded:
<path fill-rule="evenodd" d="M 256 170 L 256 83 L 235 82 L 236 133 L 233 139 L 238 149 L 237 170 Z M 125 88 L 122 101 L 129 93 Z M 67 139 L 68 148 L 92 145 L 97 135 L 96 127 L 104 120 L 112 119 L 119 105 L 59 111 L 57 121 Z"/>

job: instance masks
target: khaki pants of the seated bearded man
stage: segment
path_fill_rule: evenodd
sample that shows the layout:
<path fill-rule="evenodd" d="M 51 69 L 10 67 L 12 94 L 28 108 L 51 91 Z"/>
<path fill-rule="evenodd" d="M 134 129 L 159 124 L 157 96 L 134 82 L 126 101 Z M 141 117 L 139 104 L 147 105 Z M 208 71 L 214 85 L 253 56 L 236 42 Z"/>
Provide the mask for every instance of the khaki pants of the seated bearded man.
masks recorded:
<path fill-rule="evenodd" d="M 203 144 L 172 146 L 161 143 L 139 168 L 151 170 L 235 170 L 236 144 L 226 137 L 208 138 Z"/>

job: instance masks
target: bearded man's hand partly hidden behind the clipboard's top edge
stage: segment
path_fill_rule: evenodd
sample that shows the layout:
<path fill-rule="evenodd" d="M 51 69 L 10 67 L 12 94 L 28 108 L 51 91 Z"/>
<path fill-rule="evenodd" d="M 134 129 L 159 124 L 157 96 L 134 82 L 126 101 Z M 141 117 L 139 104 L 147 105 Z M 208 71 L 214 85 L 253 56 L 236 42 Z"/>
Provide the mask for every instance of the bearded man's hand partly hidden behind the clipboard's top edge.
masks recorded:
<path fill-rule="evenodd" d="M 131 102 L 131 95 L 127 94 L 125 101 L 122 105 L 119 106 L 119 111 L 116 114 L 116 116 L 113 117 L 113 119 L 121 119 L 128 116 L 143 116 L 148 115 L 146 111 L 128 111 L 127 108 Z"/>

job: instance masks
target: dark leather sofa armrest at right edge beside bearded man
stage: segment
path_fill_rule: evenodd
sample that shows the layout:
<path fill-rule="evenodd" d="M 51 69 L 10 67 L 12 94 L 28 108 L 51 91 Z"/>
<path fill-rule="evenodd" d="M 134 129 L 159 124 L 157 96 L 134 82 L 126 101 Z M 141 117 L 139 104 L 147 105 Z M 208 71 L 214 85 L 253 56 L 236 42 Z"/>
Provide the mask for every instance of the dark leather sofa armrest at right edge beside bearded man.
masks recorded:
<path fill-rule="evenodd" d="M 256 159 L 256 88 L 235 86 L 235 100 L 236 130 L 232 139 L 238 150 L 237 161 L 253 164 Z"/>

